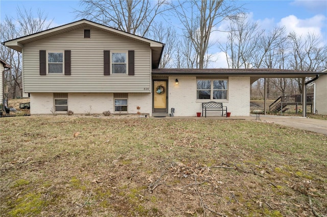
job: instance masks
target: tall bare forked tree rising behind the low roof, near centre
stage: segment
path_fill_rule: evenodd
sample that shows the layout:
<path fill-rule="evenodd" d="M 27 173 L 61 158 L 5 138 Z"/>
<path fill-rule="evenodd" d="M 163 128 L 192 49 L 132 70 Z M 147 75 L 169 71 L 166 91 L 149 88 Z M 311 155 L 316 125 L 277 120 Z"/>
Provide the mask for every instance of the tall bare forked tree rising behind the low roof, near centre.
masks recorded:
<path fill-rule="evenodd" d="M 215 31 L 215 26 L 221 21 L 228 19 L 239 8 L 231 1 L 178 1 L 179 7 L 175 12 L 183 26 L 184 37 L 192 43 L 192 48 L 197 55 L 196 68 L 205 66 L 208 48 L 213 45 L 210 36 Z"/>

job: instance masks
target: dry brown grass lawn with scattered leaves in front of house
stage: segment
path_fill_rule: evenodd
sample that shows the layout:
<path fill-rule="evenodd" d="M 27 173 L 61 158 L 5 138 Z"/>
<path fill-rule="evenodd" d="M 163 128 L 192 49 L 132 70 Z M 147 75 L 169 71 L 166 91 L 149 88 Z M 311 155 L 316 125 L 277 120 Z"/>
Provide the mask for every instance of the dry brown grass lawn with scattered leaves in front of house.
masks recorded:
<path fill-rule="evenodd" d="M 326 215 L 326 153 L 245 120 L 3 118 L 1 216 Z"/>

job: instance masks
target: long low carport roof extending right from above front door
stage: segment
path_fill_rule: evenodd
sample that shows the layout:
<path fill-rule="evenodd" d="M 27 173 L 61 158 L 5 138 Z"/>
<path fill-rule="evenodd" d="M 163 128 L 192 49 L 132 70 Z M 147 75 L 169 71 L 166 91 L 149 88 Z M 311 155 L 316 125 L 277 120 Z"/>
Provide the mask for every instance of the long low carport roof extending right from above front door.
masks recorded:
<path fill-rule="evenodd" d="M 300 78 L 315 77 L 327 72 L 309 72 L 285 69 L 153 69 L 152 75 L 181 75 L 181 76 L 246 76 L 251 77 L 251 83 L 259 78 Z"/>

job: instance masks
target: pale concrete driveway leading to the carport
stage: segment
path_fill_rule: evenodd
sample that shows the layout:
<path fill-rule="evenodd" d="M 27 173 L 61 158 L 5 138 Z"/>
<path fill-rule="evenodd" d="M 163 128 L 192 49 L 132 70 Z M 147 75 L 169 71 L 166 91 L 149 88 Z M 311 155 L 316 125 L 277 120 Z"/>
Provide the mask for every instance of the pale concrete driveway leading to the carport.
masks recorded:
<path fill-rule="evenodd" d="M 254 116 L 255 118 L 255 116 Z M 270 116 L 261 115 L 261 121 L 266 121 L 270 123 L 281 124 L 285 126 L 290 126 L 299 129 L 305 129 L 313 132 L 318 132 L 327 135 L 327 121 L 318 120 L 313 118 L 303 118 L 303 117 L 283 117 L 283 116 Z"/>

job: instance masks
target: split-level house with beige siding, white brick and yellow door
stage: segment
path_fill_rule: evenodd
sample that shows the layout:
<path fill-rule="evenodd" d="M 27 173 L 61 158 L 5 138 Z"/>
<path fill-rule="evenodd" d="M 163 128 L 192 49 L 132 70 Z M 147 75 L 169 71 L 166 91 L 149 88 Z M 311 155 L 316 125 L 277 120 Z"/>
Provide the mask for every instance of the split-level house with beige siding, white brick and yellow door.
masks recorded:
<path fill-rule="evenodd" d="M 89 20 L 3 43 L 22 52 L 31 114 L 196 116 L 222 102 L 231 116 L 250 115 L 250 85 L 261 77 L 314 77 L 274 69 L 160 69 L 165 44 Z M 221 111 L 207 116 L 220 116 Z"/>

